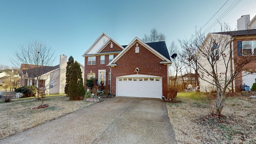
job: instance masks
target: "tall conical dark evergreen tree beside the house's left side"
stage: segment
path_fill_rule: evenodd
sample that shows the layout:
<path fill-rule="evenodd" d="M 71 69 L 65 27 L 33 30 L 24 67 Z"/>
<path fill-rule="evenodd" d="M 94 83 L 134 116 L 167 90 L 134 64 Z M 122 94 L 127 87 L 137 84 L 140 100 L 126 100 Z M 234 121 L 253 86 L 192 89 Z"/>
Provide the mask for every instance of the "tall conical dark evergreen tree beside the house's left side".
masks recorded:
<path fill-rule="evenodd" d="M 83 85 L 82 72 L 78 62 L 71 66 L 70 84 L 68 87 L 68 97 L 70 100 L 82 100 L 86 90 Z"/>

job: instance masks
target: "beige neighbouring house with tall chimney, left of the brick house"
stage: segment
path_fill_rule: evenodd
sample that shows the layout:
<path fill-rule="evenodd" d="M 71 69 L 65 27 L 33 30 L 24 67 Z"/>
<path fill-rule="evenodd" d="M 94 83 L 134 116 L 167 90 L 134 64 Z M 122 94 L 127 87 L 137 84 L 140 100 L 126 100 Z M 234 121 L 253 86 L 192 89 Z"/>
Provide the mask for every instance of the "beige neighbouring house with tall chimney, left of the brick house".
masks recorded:
<path fill-rule="evenodd" d="M 37 86 L 44 89 L 45 94 L 64 94 L 66 85 L 67 56 L 60 55 L 60 64 L 56 66 L 38 66 L 32 64 L 21 64 L 20 66 L 20 86 Z M 84 66 L 80 64 L 82 77 L 84 76 Z M 39 74 L 39 82 L 37 80 Z M 83 77 L 84 79 L 84 77 Z"/>

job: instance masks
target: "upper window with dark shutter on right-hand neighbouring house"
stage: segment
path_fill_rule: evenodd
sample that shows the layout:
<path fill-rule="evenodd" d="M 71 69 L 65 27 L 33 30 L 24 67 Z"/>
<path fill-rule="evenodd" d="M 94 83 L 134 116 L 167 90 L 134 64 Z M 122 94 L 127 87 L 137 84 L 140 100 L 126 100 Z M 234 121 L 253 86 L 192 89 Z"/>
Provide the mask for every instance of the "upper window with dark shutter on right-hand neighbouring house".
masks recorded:
<path fill-rule="evenodd" d="M 256 41 L 242 42 L 243 56 L 250 56 L 256 52 Z"/>

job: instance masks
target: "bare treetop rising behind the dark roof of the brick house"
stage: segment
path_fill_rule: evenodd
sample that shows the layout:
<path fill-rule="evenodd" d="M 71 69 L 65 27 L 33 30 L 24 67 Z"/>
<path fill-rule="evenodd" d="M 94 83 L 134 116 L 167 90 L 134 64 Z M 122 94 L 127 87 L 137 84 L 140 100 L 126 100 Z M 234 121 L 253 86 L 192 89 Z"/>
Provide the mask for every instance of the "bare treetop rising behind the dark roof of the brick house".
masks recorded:
<path fill-rule="evenodd" d="M 144 34 L 142 40 L 144 42 L 161 42 L 166 39 L 166 36 L 162 32 L 158 32 L 156 28 L 151 29 L 150 34 Z"/>

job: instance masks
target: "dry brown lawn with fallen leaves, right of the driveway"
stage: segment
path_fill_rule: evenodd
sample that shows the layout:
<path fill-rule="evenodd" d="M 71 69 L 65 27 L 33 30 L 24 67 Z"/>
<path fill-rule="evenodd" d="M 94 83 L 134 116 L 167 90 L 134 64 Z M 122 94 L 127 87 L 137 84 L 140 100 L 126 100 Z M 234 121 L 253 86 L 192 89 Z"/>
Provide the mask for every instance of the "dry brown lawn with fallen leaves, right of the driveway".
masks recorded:
<path fill-rule="evenodd" d="M 227 118 L 215 118 L 202 93 L 192 95 L 178 93 L 180 102 L 167 103 L 178 144 L 256 144 L 256 98 L 227 98 Z"/>

